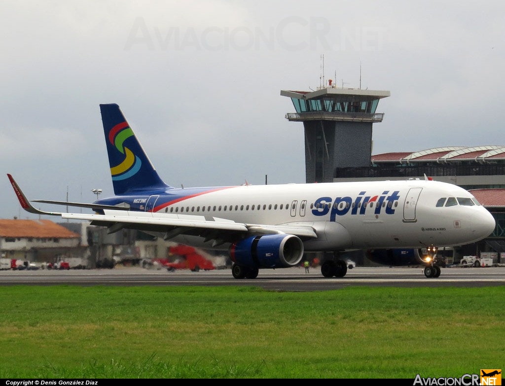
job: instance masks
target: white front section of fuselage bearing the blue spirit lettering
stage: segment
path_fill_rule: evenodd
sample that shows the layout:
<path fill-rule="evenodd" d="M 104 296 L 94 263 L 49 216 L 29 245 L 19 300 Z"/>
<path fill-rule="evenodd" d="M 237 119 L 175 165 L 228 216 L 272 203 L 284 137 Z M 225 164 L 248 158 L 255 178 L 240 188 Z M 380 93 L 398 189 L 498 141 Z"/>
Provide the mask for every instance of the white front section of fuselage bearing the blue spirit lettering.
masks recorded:
<path fill-rule="evenodd" d="M 442 198 L 456 204 L 437 206 Z M 475 242 L 494 229 L 492 215 L 469 192 L 426 180 L 245 185 L 168 202 L 153 213 L 195 215 L 262 227 L 312 227 L 317 238 L 304 240 L 306 251 L 448 247 Z M 210 248 L 203 238 L 174 240 Z"/>

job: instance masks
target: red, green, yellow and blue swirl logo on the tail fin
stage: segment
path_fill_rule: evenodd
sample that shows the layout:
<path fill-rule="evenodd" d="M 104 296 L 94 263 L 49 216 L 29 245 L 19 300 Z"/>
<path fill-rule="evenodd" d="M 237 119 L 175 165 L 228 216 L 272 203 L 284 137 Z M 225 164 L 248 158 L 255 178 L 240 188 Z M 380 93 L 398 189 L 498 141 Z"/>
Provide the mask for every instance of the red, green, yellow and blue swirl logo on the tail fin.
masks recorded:
<path fill-rule="evenodd" d="M 128 126 L 128 122 L 114 126 L 109 132 L 109 142 L 125 155 L 125 159 L 118 166 L 111 168 L 113 181 L 126 180 L 134 176 L 142 166 L 140 158 L 133 154 L 129 148 L 123 146 L 124 141 L 131 136 L 133 136 L 133 131 Z"/>

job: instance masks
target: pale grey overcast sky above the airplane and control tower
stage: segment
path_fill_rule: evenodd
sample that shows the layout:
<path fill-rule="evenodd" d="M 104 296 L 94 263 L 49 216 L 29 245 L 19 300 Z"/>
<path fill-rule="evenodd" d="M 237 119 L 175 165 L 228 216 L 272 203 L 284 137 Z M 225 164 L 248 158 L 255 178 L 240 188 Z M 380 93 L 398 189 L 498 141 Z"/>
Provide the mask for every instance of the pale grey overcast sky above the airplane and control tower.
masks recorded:
<path fill-rule="evenodd" d="M 374 154 L 505 145 L 503 15 L 498 1 L 2 0 L 0 218 L 37 218 L 7 173 L 29 199 L 113 194 L 100 103 L 172 186 L 304 183 L 280 91 L 359 87 L 360 66 L 362 88 L 391 92 Z"/>

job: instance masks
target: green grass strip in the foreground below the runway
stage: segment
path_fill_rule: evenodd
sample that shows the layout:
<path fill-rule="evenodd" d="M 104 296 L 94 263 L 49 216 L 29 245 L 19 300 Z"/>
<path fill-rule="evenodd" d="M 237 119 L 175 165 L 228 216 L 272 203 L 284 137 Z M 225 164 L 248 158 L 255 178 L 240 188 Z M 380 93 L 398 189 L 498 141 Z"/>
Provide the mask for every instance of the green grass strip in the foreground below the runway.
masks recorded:
<path fill-rule="evenodd" d="M 505 363 L 505 287 L 0 287 L 0 378 L 460 377 Z"/>

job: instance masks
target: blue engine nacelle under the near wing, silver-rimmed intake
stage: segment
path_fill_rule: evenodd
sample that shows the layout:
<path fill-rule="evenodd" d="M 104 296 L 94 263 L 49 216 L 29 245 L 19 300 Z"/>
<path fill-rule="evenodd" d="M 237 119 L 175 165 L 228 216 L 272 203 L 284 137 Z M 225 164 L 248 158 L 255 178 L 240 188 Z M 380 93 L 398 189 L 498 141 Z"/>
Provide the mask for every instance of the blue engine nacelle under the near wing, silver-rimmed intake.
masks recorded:
<path fill-rule="evenodd" d="M 304 244 L 294 235 L 251 236 L 233 243 L 231 260 L 249 268 L 287 268 L 304 256 Z"/>

